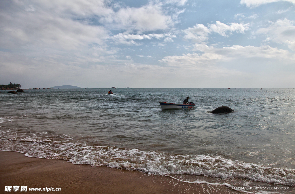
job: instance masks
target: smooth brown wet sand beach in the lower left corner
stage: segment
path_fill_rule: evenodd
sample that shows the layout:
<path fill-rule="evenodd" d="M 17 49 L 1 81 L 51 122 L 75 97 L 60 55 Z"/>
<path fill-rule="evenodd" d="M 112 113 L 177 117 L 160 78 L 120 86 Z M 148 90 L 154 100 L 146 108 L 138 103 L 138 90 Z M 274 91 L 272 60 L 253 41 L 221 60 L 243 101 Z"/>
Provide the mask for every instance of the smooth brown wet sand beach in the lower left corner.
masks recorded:
<path fill-rule="evenodd" d="M 27 186 L 24 193 L 242 193 L 226 186 L 184 183 L 167 176 L 109 167 L 73 165 L 64 160 L 26 157 L 0 151 L 0 193 L 5 186 Z M 60 188 L 60 191 L 29 191 L 29 188 Z M 20 189 L 20 187 L 19 187 Z M 12 193 L 19 193 L 20 190 Z M 23 193 L 23 191 L 21 192 Z"/>

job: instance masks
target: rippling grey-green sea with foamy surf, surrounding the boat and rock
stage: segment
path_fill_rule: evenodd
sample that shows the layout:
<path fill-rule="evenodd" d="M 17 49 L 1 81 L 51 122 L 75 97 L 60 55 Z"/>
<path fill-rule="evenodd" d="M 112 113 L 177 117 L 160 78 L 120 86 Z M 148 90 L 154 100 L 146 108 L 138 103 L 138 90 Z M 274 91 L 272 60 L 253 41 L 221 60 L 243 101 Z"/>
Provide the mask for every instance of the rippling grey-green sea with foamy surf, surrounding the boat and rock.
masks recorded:
<path fill-rule="evenodd" d="M 0 150 L 245 193 L 295 193 L 295 89 L 0 91 Z M 196 105 L 162 110 L 159 101 Z M 231 113 L 212 114 L 219 106 Z"/>

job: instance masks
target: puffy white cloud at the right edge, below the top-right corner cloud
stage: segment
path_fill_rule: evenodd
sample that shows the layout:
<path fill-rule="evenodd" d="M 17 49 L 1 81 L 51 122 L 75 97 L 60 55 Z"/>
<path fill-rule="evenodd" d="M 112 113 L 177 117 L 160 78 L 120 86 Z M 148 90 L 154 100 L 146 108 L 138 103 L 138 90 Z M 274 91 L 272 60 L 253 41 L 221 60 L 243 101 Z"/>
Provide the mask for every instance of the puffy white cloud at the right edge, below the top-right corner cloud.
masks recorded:
<path fill-rule="evenodd" d="M 270 25 L 265 28 L 260 28 L 256 34 L 266 34 L 266 40 L 288 45 L 292 50 L 295 50 L 295 22 L 288 19 L 279 19 L 276 22 L 270 22 Z"/>

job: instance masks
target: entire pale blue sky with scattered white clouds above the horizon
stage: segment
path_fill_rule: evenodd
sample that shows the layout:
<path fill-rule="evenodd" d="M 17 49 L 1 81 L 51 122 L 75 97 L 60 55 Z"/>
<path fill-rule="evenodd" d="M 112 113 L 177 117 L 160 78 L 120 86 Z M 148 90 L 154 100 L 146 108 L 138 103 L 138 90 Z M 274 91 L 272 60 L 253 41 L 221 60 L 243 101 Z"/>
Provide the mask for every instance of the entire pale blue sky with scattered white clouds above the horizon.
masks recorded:
<path fill-rule="evenodd" d="M 1 0 L 10 82 L 294 88 L 295 0 Z"/>

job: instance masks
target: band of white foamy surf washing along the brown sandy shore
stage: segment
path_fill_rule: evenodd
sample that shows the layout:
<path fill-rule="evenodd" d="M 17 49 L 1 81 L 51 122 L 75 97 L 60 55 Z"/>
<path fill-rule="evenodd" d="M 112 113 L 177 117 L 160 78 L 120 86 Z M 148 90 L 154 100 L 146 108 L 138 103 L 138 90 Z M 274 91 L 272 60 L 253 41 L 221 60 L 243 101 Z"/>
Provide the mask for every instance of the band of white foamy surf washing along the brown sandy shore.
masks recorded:
<path fill-rule="evenodd" d="M 72 142 L 68 135 L 2 133 L 2 151 L 17 151 L 28 157 L 62 159 L 73 164 L 108 166 L 154 175 L 203 175 L 223 180 L 236 178 L 295 186 L 294 169 L 266 167 L 210 155 L 169 155 L 157 151 L 89 146 Z M 207 182 L 192 182 L 209 184 Z M 220 183 L 210 183 L 220 185 Z M 229 186 L 227 183 L 221 185 Z"/>

